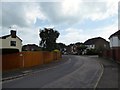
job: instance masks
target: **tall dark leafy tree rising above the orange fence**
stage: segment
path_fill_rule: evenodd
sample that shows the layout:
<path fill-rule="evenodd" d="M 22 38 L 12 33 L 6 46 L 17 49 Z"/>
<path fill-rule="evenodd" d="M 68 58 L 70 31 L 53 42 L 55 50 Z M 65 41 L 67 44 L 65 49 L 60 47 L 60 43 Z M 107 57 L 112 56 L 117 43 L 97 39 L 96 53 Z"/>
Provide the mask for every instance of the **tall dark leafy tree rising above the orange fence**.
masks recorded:
<path fill-rule="evenodd" d="M 40 30 L 40 46 L 43 50 L 52 51 L 57 48 L 56 40 L 59 37 L 60 33 L 53 28 L 44 28 Z"/>

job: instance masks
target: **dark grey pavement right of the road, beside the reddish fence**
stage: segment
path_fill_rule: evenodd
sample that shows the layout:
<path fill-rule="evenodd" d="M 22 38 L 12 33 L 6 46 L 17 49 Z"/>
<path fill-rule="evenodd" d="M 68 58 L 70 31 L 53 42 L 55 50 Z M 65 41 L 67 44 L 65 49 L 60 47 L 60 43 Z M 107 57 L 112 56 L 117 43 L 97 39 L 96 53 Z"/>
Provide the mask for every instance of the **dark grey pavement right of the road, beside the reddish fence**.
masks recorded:
<path fill-rule="evenodd" d="M 104 67 L 103 75 L 97 85 L 97 88 L 120 89 L 120 64 L 107 58 L 92 57 L 98 60 Z"/>

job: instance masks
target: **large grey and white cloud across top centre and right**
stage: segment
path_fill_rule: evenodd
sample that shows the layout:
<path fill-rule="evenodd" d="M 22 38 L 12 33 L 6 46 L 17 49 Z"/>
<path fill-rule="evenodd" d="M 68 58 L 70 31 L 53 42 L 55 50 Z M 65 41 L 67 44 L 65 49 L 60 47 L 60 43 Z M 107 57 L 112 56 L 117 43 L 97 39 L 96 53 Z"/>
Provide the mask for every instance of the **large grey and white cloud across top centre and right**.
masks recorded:
<path fill-rule="evenodd" d="M 105 2 L 82 2 L 70 6 L 70 11 L 64 12 L 63 2 L 41 2 L 40 11 L 54 24 L 76 24 L 83 19 L 94 18 L 95 13 L 106 13 L 107 6 Z"/>

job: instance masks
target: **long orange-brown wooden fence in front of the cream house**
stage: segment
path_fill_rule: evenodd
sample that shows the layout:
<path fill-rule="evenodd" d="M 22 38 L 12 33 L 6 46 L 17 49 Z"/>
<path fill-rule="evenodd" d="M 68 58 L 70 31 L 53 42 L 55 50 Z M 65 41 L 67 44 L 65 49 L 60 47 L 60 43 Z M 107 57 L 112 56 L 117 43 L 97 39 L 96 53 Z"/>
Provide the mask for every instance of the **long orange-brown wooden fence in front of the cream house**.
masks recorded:
<path fill-rule="evenodd" d="M 0 62 L 2 62 L 2 71 L 8 71 L 50 63 L 52 61 L 59 60 L 60 58 L 60 52 L 28 51 L 2 55 Z"/>

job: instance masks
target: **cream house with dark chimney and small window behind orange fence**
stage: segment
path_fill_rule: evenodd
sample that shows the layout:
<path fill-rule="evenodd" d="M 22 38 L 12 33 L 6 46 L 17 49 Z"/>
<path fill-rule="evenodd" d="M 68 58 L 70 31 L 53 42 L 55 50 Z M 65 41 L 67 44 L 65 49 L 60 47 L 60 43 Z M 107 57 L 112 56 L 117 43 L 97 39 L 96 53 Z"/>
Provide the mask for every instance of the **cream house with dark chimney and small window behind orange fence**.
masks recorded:
<path fill-rule="evenodd" d="M 22 50 L 22 40 L 16 35 L 15 30 L 11 30 L 10 35 L 0 37 L 0 49 L 18 49 L 19 52 Z"/>

